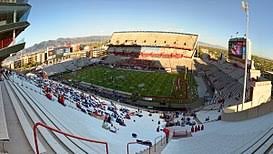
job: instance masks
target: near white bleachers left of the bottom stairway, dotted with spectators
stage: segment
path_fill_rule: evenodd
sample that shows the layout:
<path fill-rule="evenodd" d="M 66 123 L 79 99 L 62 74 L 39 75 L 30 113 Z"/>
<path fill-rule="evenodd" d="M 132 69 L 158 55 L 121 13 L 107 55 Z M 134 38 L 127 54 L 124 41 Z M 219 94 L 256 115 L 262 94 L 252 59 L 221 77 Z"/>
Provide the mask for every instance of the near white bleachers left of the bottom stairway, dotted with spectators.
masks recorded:
<path fill-rule="evenodd" d="M 90 103 L 95 106 L 86 106 L 84 102 L 81 102 L 81 108 L 79 108 L 75 99 L 79 98 L 78 96 L 80 95 L 78 94 L 81 92 L 72 88 L 70 91 L 78 93 L 78 96 L 74 98 L 72 93 L 71 95 L 67 93 L 66 103 L 63 106 L 58 103 L 56 93 L 53 95 L 53 100 L 49 100 L 41 93 L 42 89 L 37 85 L 38 83 L 44 85 L 49 83 L 52 88 L 57 85 L 64 88 L 64 85 L 50 80 L 40 82 L 41 80 L 38 78 L 33 80 L 20 75 L 14 75 L 11 78 L 13 80 L 5 80 L 1 85 L 2 88 L 7 89 L 16 114 L 20 117 L 20 124 L 26 135 L 25 140 L 29 142 L 29 145 L 26 147 L 31 147 L 30 151 L 36 151 L 31 128 L 36 122 L 42 122 L 69 134 L 105 141 L 109 145 L 109 153 L 112 154 L 125 152 L 126 144 L 135 140 L 131 136 L 132 133 L 138 135 L 137 139 L 149 140 L 151 142 L 157 136 L 164 136 L 163 132 L 156 131 L 157 126 L 162 125 L 163 127 L 165 125 L 163 119 L 159 118 L 159 113 L 151 113 L 116 103 L 113 104 L 95 95 L 90 96 Z M 55 90 L 58 90 L 58 88 Z M 88 94 L 84 95 L 87 96 Z M 102 128 L 103 115 L 111 114 L 114 110 L 117 111 L 117 118 L 125 116 L 125 113 L 130 113 L 129 119 L 124 118 L 125 126 L 119 125 L 115 120 L 116 118 L 112 117 L 112 124 L 117 128 L 117 133 Z M 97 115 L 91 115 L 91 112 Z M 160 121 L 161 125 L 158 125 L 158 121 Z M 143 127 L 143 123 L 151 127 Z M 39 135 L 42 136 L 38 138 L 40 153 L 107 153 L 104 145 L 71 139 L 50 130 L 39 129 Z M 9 145 L 6 147 L 11 152 L 16 150 L 16 148 L 12 148 Z M 23 148 L 26 149 L 26 147 Z M 135 145 L 130 148 L 130 153 L 140 152 L 145 150 L 145 148 L 145 145 Z M 18 151 L 14 153 L 18 153 Z"/>

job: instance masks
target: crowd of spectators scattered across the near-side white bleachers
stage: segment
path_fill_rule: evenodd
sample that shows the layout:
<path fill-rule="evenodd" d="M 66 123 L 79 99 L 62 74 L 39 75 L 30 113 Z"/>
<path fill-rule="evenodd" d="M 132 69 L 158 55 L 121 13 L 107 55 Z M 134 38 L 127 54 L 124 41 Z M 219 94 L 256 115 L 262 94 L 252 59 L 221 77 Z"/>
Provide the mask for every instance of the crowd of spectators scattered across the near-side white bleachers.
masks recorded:
<path fill-rule="evenodd" d="M 8 74 L 7 76 L 11 77 L 13 75 L 39 87 L 41 91 L 37 91 L 37 93 L 44 95 L 49 100 L 58 102 L 64 107 L 72 107 L 84 114 L 102 120 L 102 128 L 113 133 L 119 131 L 119 127 L 126 127 L 125 119 L 131 120 L 132 116 L 143 117 L 142 109 L 131 110 L 126 106 L 117 107 L 112 101 L 106 101 L 94 94 L 84 93 L 53 80 L 36 76 L 27 77 L 17 73 Z M 155 113 L 150 110 L 147 111 L 149 112 L 149 116 Z M 156 111 L 156 113 L 158 113 L 158 111 Z M 161 116 L 161 118 L 169 123 L 173 121 L 173 119 L 170 119 L 170 117 L 167 116 L 168 114 L 162 114 L 164 116 Z M 160 131 L 163 131 L 163 127 L 165 126 L 162 126 L 160 122 L 158 126 L 162 127 Z M 168 127 L 169 125 L 166 126 Z"/>

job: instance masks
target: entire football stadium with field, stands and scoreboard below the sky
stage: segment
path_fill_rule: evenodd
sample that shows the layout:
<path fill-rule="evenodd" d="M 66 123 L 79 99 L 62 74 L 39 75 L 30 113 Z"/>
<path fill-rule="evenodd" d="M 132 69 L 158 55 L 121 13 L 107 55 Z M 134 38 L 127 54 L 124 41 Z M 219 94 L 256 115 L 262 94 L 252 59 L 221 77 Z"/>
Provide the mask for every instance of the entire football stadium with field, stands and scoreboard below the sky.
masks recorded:
<path fill-rule="evenodd" d="M 220 56 L 170 31 L 24 49 L 31 5 L 0 8 L 0 154 L 273 152 L 273 73 L 256 68 L 248 31 Z"/>

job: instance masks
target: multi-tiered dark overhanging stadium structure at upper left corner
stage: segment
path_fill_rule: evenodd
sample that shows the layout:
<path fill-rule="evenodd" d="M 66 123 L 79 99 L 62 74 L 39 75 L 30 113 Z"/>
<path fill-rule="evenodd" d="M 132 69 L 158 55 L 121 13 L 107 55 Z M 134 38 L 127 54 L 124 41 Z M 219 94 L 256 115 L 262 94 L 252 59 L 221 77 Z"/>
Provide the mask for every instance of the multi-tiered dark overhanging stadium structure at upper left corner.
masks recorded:
<path fill-rule="evenodd" d="M 0 60 L 25 47 L 16 37 L 30 25 L 30 9 L 27 0 L 0 0 Z"/>

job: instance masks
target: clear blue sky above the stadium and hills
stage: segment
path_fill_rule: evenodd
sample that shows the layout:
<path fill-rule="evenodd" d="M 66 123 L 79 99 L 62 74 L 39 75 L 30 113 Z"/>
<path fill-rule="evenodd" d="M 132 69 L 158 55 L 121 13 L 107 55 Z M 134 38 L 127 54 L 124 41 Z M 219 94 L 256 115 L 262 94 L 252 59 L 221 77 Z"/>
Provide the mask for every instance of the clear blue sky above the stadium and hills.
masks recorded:
<path fill-rule="evenodd" d="M 27 45 L 60 37 L 149 30 L 194 33 L 199 41 L 227 47 L 243 36 L 241 0 L 29 0 Z M 249 38 L 254 54 L 273 59 L 273 1 L 249 0 Z"/>

